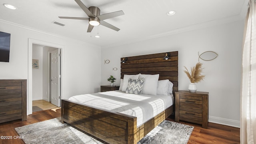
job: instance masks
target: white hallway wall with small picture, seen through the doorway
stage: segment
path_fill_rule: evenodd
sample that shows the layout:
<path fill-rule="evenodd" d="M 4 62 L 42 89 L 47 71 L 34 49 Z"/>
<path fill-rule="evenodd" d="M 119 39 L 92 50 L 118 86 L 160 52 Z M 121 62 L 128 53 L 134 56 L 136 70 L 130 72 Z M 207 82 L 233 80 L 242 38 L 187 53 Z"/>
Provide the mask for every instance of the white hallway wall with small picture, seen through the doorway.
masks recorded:
<path fill-rule="evenodd" d="M 42 100 L 43 86 L 43 47 L 33 44 L 32 59 L 38 60 L 38 68 L 32 69 L 32 100 Z"/>

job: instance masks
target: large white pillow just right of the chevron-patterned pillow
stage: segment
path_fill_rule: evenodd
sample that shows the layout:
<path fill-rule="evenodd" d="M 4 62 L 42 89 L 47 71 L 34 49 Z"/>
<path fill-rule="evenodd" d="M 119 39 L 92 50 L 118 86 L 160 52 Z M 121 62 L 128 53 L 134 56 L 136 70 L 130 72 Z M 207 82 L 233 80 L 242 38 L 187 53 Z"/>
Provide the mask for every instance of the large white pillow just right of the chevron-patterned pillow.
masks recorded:
<path fill-rule="evenodd" d="M 142 94 L 156 95 L 159 74 L 140 74 L 141 78 L 145 78 Z"/>

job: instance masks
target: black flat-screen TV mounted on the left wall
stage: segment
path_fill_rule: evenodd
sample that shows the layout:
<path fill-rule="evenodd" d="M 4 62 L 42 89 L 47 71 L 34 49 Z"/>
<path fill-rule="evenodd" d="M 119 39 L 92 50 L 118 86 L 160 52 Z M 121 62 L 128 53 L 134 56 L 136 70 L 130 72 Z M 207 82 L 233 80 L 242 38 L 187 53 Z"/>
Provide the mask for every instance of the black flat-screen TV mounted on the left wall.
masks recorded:
<path fill-rule="evenodd" d="M 9 62 L 11 34 L 0 32 L 0 62 Z"/>

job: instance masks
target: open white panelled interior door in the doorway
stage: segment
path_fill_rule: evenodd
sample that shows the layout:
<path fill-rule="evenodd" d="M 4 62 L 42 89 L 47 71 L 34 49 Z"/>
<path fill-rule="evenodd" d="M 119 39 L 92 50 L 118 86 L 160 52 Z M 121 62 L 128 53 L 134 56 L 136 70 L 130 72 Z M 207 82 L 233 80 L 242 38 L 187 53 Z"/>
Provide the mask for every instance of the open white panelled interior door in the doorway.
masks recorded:
<path fill-rule="evenodd" d="M 60 49 L 51 52 L 51 102 L 60 107 Z"/>

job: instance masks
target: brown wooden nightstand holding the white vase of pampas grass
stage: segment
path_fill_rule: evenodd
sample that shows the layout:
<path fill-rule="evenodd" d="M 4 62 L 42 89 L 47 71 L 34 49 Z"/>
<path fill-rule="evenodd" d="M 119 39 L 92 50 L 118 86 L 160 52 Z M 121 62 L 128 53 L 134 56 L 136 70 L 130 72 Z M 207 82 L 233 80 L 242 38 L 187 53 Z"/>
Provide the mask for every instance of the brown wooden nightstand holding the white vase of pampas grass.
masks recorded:
<path fill-rule="evenodd" d="M 175 121 L 184 120 L 208 128 L 209 92 L 175 92 Z"/>

